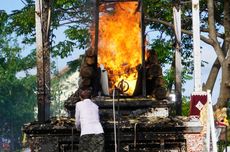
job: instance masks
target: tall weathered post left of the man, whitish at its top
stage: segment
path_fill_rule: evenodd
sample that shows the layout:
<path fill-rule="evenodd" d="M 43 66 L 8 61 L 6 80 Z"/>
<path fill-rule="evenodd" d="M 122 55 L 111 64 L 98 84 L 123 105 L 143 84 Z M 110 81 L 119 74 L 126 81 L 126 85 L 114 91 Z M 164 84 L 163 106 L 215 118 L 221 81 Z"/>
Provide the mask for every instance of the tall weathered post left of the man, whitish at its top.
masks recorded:
<path fill-rule="evenodd" d="M 51 1 L 35 1 L 38 120 L 50 117 L 50 14 Z"/>

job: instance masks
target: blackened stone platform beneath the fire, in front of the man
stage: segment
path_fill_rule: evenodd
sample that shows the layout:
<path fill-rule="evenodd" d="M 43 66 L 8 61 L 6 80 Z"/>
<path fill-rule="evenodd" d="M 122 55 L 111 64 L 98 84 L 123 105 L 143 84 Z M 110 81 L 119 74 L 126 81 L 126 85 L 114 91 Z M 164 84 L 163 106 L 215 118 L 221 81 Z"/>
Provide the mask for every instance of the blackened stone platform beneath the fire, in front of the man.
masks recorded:
<path fill-rule="evenodd" d="M 105 131 L 106 152 L 113 152 L 115 145 L 112 101 L 110 98 L 95 98 Z M 170 109 L 166 100 L 123 98 L 116 99 L 115 105 L 116 143 L 120 152 L 192 152 L 193 148 L 194 152 L 199 152 L 202 148 L 199 122 L 187 117 L 165 117 L 166 110 L 162 117 L 154 116 L 157 108 Z M 34 151 L 77 152 L 79 131 L 72 118 L 53 118 L 44 124 L 30 123 L 24 127 L 24 132 Z"/>

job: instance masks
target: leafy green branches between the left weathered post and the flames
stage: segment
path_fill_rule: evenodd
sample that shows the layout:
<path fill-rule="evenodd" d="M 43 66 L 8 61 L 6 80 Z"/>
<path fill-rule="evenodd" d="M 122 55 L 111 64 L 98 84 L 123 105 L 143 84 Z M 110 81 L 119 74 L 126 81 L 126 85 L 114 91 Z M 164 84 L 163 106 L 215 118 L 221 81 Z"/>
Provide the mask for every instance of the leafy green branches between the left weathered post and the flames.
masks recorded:
<path fill-rule="evenodd" d="M 93 20 L 93 2 L 89 0 L 57 0 L 53 3 L 52 29 L 65 26 L 66 40 L 53 46 L 53 56 L 65 58 L 76 49 L 90 44 L 88 29 Z"/>

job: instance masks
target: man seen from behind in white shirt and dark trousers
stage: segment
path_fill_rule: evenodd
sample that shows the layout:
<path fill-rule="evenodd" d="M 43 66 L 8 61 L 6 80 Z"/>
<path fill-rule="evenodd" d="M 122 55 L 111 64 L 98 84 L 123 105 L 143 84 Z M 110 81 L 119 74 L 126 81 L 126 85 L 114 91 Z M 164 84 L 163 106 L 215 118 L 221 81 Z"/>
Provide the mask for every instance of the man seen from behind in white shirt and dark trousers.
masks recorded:
<path fill-rule="evenodd" d="M 75 124 L 81 130 L 79 152 L 103 152 L 104 131 L 99 119 L 98 106 L 91 101 L 91 90 L 80 90 L 76 103 Z"/>

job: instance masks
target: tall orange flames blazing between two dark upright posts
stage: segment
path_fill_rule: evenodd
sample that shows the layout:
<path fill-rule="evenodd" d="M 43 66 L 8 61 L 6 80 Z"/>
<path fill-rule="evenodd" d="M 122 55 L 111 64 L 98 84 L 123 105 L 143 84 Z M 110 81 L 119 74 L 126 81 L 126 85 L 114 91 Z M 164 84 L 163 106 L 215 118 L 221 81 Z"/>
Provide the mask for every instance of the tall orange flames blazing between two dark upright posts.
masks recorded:
<path fill-rule="evenodd" d="M 137 2 L 100 6 L 98 63 L 108 71 L 110 91 L 124 81 L 129 86 L 128 95 L 134 92 L 138 75 L 136 67 L 141 63 L 140 12 L 137 7 Z"/>

